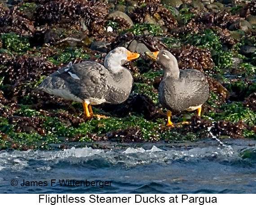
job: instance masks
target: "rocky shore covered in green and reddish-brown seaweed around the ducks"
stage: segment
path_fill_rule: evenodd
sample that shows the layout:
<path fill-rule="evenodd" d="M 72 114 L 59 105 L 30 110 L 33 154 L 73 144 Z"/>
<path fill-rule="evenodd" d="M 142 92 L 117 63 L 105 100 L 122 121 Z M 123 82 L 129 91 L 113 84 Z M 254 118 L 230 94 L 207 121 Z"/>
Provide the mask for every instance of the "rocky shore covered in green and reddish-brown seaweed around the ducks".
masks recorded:
<path fill-rule="evenodd" d="M 35 91 L 70 61 L 102 63 L 117 46 L 141 58 L 125 65 L 134 76 L 128 100 L 93 109 L 110 118 L 84 120 L 79 103 Z M 202 117 L 173 113 L 190 125 L 165 126 L 163 70 L 144 55 L 161 49 L 208 78 Z M 194 141 L 209 127 L 220 139 L 256 139 L 256 0 L 0 1 L 0 149 Z"/>

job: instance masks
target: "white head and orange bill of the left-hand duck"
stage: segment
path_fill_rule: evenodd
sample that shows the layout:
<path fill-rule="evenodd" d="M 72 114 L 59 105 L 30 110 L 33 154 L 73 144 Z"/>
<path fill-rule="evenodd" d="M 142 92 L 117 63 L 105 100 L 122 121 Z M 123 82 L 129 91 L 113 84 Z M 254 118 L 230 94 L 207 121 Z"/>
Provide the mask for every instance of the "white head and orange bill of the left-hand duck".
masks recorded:
<path fill-rule="evenodd" d="M 118 72 L 127 61 L 140 57 L 140 54 L 130 52 L 124 47 L 117 47 L 110 51 L 104 61 L 104 66 L 113 72 Z"/>

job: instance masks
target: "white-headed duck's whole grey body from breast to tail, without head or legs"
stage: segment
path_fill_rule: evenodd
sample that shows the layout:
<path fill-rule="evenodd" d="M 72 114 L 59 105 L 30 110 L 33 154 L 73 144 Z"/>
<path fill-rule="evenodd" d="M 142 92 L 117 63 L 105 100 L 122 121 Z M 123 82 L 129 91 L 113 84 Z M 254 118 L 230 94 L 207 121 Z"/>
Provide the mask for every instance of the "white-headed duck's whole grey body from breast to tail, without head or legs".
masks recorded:
<path fill-rule="evenodd" d="M 97 62 L 84 61 L 57 70 L 38 89 L 91 105 L 119 104 L 128 98 L 132 83 L 132 74 L 125 68 L 113 73 Z"/>

